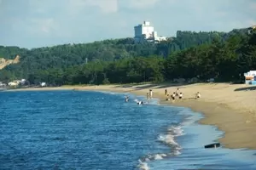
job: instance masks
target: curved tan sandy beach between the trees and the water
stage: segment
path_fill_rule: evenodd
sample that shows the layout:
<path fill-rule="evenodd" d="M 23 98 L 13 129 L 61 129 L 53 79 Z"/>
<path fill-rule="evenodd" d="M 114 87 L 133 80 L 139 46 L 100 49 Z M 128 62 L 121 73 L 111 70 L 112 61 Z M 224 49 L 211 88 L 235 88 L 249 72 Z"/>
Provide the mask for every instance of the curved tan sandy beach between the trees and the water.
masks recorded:
<path fill-rule="evenodd" d="M 177 88 L 183 92 L 183 99 L 166 101 L 164 94 L 173 93 Z M 63 86 L 59 88 L 26 88 L 17 90 L 102 90 L 113 92 L 129 92 L 146 95 L 153 90 L 153 97 L 162 104 L 189 107 L 201 112 L 205 118 L 200 122 L 217 126 L 224 131 L 224 137 L 219 142 L 230 149 L 256 149 L 256 86 L 229 83 L 196 83 L 190 85 L 177 84 L 143 84 L 143 85 L 101 85 L 101 86 Z M 191 99 L 196 92 L 201 93 L 201 99 Z"/>

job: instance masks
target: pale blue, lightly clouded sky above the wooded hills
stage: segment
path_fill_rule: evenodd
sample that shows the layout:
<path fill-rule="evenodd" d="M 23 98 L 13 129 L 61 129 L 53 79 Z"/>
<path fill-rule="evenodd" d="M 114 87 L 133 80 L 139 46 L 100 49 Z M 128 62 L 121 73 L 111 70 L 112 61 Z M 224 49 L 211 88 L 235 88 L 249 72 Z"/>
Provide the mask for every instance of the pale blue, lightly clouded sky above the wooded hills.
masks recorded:
<path fill-rule="evenodd" d="M 38 48 L 134 37 L 148 20 L 158 35 L 256 25 L 256 0 L 0 0 L 0 45 Z"/>

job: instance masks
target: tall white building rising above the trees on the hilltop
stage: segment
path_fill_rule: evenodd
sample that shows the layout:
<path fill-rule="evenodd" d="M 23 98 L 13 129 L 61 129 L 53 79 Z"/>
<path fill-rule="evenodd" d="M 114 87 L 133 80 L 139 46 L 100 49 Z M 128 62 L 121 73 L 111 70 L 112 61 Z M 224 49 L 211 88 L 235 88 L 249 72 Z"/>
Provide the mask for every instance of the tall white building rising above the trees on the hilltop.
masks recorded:
<path fill-rule="evenodd" d="M 158 37 L 154 27 L 150 26 L 150 22 L 144 21 L 143 24 L 134 26 L 134 39 L 135 42 L 160 42 L 166 41 L 166 37 Z"/>

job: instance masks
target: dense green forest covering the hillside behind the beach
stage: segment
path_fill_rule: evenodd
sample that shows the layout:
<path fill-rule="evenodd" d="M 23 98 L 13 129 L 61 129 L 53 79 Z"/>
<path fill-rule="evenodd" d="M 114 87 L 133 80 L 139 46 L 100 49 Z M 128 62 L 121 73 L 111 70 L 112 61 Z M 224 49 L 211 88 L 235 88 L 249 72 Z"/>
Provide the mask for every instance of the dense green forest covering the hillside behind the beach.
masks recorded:
<path fill-rule="evenodd" d="M 0 46 L 0 58 L 20 62 L 0 71 L 0 81 L 26 78 L 31 84 L 162 82 L 197 77 L 230 81 L 256 69 L 256 33 L 177 31 L 157 44 L 133 38 L 46 48 Z"/>

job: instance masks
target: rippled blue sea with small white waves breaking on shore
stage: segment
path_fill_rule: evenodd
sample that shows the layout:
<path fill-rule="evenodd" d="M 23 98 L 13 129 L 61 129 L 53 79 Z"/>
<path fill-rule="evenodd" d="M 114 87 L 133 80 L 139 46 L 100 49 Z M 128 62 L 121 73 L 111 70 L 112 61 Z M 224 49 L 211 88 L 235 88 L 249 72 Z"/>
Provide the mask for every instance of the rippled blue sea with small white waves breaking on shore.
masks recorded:
<path fill-rule="evenodd" d="M 224 133 L 197 123 L 201 118 L 133 94 L 4 91 L 0 169 L 256 169 L 255 150 L 205 149 Z"/>

